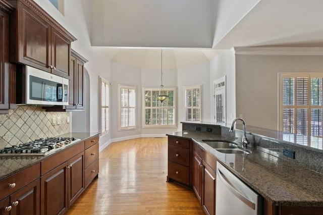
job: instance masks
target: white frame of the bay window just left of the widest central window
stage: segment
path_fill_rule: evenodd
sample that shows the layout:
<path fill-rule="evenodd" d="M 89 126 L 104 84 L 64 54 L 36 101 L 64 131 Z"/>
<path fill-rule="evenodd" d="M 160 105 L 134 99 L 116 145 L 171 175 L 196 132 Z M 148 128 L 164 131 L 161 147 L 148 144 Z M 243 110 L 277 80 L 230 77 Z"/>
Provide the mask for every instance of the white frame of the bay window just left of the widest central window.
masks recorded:
<path fill-rule="evenodd" d="M 136 93 L 136 86 L 130 86 L 130 85 L 122 85 L 122 84 L 118 84 L 118 130 L 119 131 L 123 131 L 123 130 L 132 130 L 132 129 L 136 129 L 136 97 L 137 97 L 137 93 Z M 135 95 L 133 98 L 134 99 L 134 106 L 126 106 L 126 108 L 128 109 L 128 126 L 121 126 L 121 109 L 122 109 L 122 106 L 121 106 L 121 89 L 127 89 L 127 90 L 134 90 L 135 91 Z M 128 94 L 129 95 L 129 94 Z M 128 104 L 129 104 L 129 96 L 128 96 Z M 125 107 L 124 107 L 125 108 Z M 134 125 L 133 126 L 130 126 L 129 125 L 129 118 L 130 118 L 130 115 L 129 115 L 129 110 L 130 109 L 134 109 Z"/>

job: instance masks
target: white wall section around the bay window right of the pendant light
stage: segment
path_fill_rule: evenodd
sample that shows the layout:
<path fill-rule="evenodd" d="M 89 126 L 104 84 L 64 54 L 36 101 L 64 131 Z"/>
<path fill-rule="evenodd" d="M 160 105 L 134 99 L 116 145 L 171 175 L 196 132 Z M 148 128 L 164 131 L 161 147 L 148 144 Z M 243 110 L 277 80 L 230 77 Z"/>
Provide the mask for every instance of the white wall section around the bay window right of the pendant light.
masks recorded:
<path fill-rule="evenodd" d="M 184 106 L 184 86 L 202 84 L 202 120 L 209 121 L 210 118 L 210 63 L 194 65 L 191 67 L 179 68 L 177 73 L 178 86 L 178 130 L 181 131 L 182 125 L 180 122 L 185 121 L 185 106 Z"/>

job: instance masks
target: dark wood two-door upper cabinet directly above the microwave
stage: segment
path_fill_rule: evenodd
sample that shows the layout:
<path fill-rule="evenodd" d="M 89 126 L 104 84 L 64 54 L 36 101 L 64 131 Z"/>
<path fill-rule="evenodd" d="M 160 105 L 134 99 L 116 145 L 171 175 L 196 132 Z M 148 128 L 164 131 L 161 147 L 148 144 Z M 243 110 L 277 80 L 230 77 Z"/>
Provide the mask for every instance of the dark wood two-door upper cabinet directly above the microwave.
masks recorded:
<path fill-rule="evenodd" d="M 30 0 L 10 0 L 10 61 L 71 78 L 71 42 L 76 38 Z"/>

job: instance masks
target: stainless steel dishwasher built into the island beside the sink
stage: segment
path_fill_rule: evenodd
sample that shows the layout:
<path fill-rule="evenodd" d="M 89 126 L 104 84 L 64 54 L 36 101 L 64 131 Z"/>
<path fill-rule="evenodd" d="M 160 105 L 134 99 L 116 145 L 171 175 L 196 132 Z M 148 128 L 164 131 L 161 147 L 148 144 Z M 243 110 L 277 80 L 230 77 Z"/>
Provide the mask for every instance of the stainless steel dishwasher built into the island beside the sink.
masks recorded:
<path fill-rule="evenodd" d="M 217 162 L 217 215 L 261 215 L 263 199 Z"/>

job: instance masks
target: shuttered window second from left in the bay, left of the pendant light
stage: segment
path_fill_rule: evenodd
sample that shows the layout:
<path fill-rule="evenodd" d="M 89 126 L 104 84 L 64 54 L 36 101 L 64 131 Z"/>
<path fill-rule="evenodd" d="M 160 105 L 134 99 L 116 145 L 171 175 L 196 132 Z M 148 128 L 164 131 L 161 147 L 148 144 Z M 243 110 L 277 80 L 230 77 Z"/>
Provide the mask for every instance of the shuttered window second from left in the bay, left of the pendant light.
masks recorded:
<path fill-rule="evenodd" d="M 119 130 L 136 128 L 136 87 L 118 85 Z"/>

